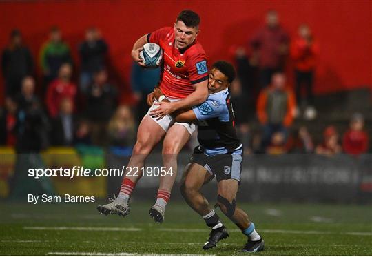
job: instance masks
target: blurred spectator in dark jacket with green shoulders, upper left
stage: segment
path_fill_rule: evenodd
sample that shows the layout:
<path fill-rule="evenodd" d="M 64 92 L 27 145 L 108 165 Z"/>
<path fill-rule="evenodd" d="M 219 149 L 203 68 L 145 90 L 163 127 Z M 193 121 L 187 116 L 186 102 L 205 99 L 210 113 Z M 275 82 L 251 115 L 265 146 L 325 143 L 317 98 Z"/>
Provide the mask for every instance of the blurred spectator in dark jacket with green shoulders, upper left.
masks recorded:
<path fill-rule="evenodd" d="M 50 30 L 50 39 L 44 43 L 40 51 L 40 62 L 45 85 L 59 76 L 59 69 L 63 63 L 72 65 L 70 48 L 62 41 L 61 30 L 58 27 Z"/>

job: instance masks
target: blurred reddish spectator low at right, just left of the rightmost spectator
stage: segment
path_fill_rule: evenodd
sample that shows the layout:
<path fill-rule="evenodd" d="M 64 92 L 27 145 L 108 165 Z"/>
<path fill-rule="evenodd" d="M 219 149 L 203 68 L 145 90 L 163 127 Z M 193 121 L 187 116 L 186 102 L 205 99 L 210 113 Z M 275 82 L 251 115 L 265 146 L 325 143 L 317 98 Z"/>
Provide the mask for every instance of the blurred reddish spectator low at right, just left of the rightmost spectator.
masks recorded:
<path fill-rule="evenodd" d="M 333 156 L 341 153 L 341 146 L 338 143 L 338 132 L 335 127 L 328 126 L 323 133 L 324 141 L 316 147 L 316 154 Z"/>

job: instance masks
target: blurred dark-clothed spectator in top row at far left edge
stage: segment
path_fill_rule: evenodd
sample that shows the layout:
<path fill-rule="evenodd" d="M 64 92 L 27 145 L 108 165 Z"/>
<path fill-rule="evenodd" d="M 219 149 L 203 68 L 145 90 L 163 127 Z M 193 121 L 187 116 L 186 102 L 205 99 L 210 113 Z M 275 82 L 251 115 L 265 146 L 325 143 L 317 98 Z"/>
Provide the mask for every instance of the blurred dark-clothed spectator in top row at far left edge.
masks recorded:
<path fill-rule="evenodd" d="M 34 71 L 32 55 L 22 44 L 19 30 L 10 33 L 10 43 L 1 56 L 1 68 L 5 79 L 6 96 L 17 96 L 21 91 L 22 79 L 32 75 Z"/>

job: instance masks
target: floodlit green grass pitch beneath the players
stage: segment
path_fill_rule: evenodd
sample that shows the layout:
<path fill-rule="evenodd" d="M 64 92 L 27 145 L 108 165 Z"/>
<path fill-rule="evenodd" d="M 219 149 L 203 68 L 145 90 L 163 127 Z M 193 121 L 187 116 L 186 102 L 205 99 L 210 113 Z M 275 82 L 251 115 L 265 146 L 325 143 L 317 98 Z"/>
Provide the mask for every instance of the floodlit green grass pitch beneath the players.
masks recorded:
<path fill-rule="evenodd" d="M 0 202 L 0 255 L 242 255 L 246 238 L 218 212 L 230 237 L 202 249 L 209 229 L 183 202 L 154 224 L 151 203 L 129 216 L 104 216 L 96 204 Z M 245 204 L 265 239 L 257 255 L 372 255 L 371 205 Z"/>

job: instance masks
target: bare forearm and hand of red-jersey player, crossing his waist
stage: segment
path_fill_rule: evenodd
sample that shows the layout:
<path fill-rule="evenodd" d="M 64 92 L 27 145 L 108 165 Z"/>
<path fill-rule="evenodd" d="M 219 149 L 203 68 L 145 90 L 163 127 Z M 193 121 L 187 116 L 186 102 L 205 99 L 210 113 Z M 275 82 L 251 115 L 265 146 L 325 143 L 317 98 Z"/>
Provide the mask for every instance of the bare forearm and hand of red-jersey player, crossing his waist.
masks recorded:
<path fill-rule="evenodd" d="M 208 98 L 208 81 L 202 81 L 200 83 L 195 84 L 195 91 L 192 94 L 189 94 L 186 98 L 167 103 L 162 101 L 161 103 L 154 103 L 155 105 L 160 105 L 157 109 L 152 110 L 150 112 L 151 116 L 155 118 L 161 119 L 164 116 L 175 112 L 176 110 L 187 109 L 192 106 L 200 105 Z"/>

